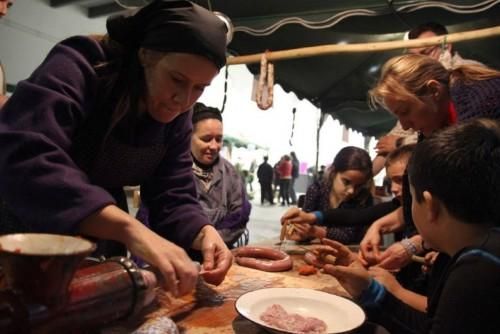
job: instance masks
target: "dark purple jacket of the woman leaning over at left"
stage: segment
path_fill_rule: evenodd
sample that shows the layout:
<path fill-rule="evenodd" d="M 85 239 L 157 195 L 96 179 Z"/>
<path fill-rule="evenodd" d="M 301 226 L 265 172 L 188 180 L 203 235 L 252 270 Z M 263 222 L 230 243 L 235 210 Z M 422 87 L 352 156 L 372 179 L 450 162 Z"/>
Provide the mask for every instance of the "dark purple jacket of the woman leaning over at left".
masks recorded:
<path fill-rule="evenodd" d="M 115 203 L 105 185 L 76 163 L 72 151 L 75 134 L 89 115 L 110 112 L 96 108 L 93 65 L 106 60 L 93 39 L 69 38 L 19 83 L 0 113 L 0 197 L 30 230 L 74 234 L 82 219 Z M 122 138 L 126 145 L 163 143 L 166 148 L 156 171 L 141 183 L 142 196 L 151 208 L 151 228 L 184 248 L 209 224 L 196 200 L 190 118 L 184 113 L 165 125 L 146 115 L 129 123 L 135 127 L 132 137 Z M 140 176 L 145 163 L 140 153 L 129 156 L 116 173 L 132 169 L 124 174 Z M 132 184 L 123 180 L 121 185 Z"/>

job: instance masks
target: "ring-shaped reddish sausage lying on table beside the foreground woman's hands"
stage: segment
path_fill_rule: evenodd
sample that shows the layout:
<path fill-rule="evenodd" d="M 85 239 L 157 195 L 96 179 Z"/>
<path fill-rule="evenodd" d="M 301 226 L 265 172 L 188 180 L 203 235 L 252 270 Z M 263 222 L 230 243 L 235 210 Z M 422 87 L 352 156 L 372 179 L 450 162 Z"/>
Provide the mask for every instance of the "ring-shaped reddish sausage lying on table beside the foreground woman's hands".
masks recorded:
<path fill-rule="evenodd" d="M 293 267 L 290 255 L 267 247 L 240 247 L 235 250 L 236 263 L 262 271 L 286 271 Z"/>

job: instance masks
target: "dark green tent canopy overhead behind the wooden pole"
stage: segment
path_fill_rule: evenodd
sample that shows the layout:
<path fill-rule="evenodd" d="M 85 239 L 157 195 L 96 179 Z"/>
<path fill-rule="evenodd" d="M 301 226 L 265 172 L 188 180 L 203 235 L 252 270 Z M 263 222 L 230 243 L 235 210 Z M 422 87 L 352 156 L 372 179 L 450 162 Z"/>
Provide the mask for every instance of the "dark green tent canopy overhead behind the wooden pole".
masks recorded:
<path fill-rule="evenodd" d="M 199 3 L 206 6 L 201 0 Z M 227 15 L 234 25 L 233 40 L 228 46 L 233 55 L 326 44 L 401 40 L 410 28 L 428 21 L 446 25 L 450 33 L 500 23 L 498 0 L 211 0 L 210 4 L 212 10 Z M 352 16 L 339 15 L 346 11 Z M 332 17 L 339 22 L 331 27 L 313 29 L 335 21 L 329 19 Z M 299 21 L 301 23 L 297 23 Z M 296 23 L 281 24 L 283 22 Z M 260 29 L 263 35 L 252 35 L 251 29 L 257 32 Z M 464 58 L 500 68 L 499 42 L 499 37 L 461 42 L 456 43 L 454 49 Z M 376 82 L 381 65 L 403 51 L 276 61 L 275 82 L 285 91 L 308 99 L 347 127 L 364 135 L 380 136 L 392 128 L 395 119 L 385 110 L 370 110 L 367 91 Z M 248 68 L 258 74 L 258 64 L 249 64 Z"/>

